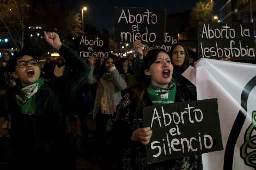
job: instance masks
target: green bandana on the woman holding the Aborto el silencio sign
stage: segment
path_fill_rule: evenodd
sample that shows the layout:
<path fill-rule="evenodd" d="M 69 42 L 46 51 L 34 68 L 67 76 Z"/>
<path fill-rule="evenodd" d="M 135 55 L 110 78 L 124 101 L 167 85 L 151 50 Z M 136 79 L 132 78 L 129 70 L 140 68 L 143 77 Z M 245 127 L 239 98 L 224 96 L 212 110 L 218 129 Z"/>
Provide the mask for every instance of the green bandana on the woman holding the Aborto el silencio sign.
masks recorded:
<path fill-rule="evenodd" d="M 174 103 L 176 84 L 173 81 L 169 83 L 167 89 L 151 84 L 146 90 L 153 105 Z"/>

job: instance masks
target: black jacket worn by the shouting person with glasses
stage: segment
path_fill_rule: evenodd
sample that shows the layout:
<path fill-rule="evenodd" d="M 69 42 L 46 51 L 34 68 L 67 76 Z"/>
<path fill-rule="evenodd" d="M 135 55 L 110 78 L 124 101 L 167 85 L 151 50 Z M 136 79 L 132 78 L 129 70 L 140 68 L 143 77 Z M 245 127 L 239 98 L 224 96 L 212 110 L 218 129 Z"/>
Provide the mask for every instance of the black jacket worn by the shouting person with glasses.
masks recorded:
<path fill-rule="evenodd" d="M 34 114 L 19 112 L 15 89 L 9 96 L 11 108 L 11 155 L 9 169 L 75 169 L 63 106 L 70 103 L 90 69 L 69 47 L 58 51 L 72 71 L 49 81 L 35 93 Z"/>

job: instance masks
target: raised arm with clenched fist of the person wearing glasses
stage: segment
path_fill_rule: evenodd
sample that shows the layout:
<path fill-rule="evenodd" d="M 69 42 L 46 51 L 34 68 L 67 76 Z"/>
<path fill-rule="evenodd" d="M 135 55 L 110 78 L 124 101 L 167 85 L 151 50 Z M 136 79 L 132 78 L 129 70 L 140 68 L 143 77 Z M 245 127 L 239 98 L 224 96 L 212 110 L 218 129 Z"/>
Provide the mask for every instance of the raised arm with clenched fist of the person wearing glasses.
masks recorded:
<path fill-rule="evenodd" d="M 62 102 L 69 103 L 87 78 L 90 68 L 85 61 L 71 48 L 62 44 L 55 32 L 44 32 L 45 40 L 66 60 L 70 70 L 66 75 L 53 78 L 49 86 L 55 91 Z"/>

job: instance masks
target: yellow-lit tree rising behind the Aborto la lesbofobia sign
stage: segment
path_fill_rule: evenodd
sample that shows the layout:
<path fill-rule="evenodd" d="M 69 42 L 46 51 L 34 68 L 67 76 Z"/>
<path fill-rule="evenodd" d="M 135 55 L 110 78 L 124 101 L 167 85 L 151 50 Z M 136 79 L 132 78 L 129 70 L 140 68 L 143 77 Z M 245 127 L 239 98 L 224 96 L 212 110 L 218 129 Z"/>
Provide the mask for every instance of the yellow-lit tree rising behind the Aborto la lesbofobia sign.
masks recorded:
<path fill-rule="evenodd" d="M 199 22 L 212 22 L 212 10 L 214 1 L 212 3 L 199 1 L 190 12 L 190 22 L 188 28 L 188 37 L 190 39 L 197 39 L 197 30 Z"/>

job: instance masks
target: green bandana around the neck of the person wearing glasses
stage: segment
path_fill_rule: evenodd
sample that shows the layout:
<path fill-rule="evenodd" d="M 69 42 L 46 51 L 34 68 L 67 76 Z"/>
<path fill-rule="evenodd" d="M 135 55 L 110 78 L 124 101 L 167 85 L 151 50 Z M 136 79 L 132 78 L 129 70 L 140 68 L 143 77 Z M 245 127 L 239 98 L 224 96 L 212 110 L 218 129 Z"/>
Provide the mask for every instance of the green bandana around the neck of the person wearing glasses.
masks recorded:
<path fill-rule="evenodd" d="M 24 114 L 34 114 L 35 110 L 35 96 L 34 94 L 43 85 L 43 78 L 39 78 L 33 83 L 25 87 L 18 88 L 16 91 L 16 101 L 18 110 Z"/>

